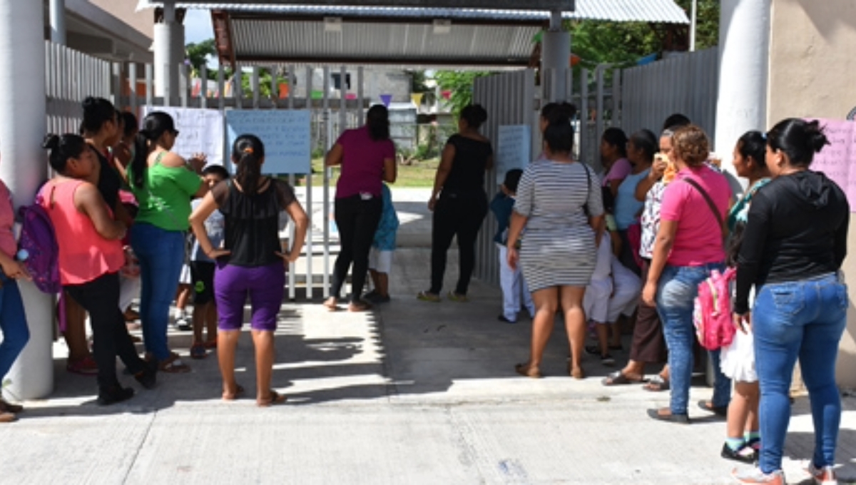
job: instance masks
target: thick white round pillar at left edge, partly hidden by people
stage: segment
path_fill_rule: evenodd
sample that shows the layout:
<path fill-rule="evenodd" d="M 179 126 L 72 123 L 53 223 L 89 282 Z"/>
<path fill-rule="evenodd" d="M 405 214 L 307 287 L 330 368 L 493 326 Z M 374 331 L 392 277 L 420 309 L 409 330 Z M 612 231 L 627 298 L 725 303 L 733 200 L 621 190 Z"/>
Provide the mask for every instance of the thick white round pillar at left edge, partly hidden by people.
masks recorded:
<path fill-rule="evenodd" d="M 41 2 L 0 0 L 0 179 L 17 208 L 32 204 L 47 176 L 42 139 L 45 116 L 45 7 Z M 9 399 L 40 399 L 53 391 L 53 304 L 21 281 L 30 341 L 3 377 Z"/>

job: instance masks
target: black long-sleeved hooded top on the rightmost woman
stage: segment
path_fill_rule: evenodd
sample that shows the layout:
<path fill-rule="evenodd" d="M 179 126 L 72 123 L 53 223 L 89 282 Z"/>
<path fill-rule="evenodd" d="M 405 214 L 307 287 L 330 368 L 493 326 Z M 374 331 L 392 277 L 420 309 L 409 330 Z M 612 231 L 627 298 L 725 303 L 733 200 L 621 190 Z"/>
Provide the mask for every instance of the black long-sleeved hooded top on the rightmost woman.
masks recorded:
<path fill-rule="evenodd" d="M 809 170 L 780 175 L 752 198 L 737 258 L 734 311 L 749 290 L 833 273 L 847 256 L 850 206 L 841 188 Z"/>

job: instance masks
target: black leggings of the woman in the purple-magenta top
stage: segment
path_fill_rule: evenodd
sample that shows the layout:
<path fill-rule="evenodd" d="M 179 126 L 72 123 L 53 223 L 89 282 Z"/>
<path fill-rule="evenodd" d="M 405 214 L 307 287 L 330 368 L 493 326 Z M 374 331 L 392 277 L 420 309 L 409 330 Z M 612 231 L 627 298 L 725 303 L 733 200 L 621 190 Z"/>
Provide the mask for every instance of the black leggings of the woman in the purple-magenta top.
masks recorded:
<path fill-rule="evenodd" d="M 339 228 L 339 240 L 342 251 L 336 257 L 333 267 L 333 286 L 330 294 L 339 298 L 342 285 L 348 276 L 348 268 L 354 263 L 351 278 L 351 301 L 362 298 L 366 285 L 366 272 L 369 269 L 369 251 L 372 250 L 377 224 L 383 212 L 383 199 L 373 197 L 364 200 L 359 195 L 336 198 L 336 227 Z"/>

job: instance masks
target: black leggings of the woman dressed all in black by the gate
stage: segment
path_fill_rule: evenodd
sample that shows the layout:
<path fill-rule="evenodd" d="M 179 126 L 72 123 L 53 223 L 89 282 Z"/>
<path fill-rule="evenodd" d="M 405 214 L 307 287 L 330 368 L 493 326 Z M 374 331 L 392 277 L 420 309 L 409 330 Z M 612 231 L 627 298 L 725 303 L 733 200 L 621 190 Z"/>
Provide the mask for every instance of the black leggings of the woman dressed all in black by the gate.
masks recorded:
<path fill-rule="evenodd" d="M 431 227 L 431 293 L 440 294 L 446 272 L 446 251 L 452 238 L 458 237 L 458 257 L 461 273 L 455 293 L 466 295 L 476 265 L 476 237 L 487 215 L 487 196 L 473 194 L 441 194 L 434 206 Z"/>

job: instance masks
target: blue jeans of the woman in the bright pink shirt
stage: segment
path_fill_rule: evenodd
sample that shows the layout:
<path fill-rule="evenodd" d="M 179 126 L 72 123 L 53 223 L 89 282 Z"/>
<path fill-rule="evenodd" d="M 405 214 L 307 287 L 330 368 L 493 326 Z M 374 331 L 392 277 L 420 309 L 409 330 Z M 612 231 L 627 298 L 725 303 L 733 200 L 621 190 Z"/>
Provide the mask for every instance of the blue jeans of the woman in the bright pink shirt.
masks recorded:
<path fill-rule="evenodd" d="M 710 275 L 712 269 L 722 271 L 723 263 L 704 266 L 666 266 L 657 284 L 657 313 L 663 322 L 663 334 L 669 347 L 669 381 L 672 414 L 687 414 L 690 399 L 690 381 L 693 379 L 693 345 L 696 334 L 693 326 L 693 300 L 698 296 L 698 283 Z M 719 351 L 710 352 L 713 360 L 713 405 L 725 406 L 731 399 L 731 380 L 719 369 Z"/>

